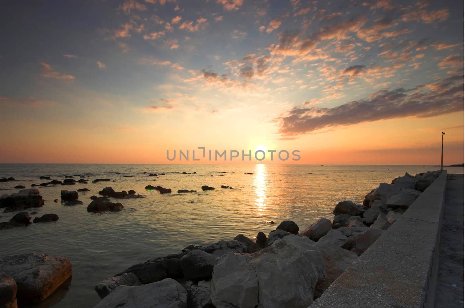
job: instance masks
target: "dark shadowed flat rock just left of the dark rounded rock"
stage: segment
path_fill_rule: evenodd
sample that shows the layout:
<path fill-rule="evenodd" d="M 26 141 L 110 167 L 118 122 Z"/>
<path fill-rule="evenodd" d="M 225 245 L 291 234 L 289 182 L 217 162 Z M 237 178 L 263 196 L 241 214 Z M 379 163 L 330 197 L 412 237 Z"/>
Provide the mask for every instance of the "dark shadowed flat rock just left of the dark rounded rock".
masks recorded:
<path fill-rule="evenodd" d="M 115 276 L 125 273 L 133 273 L 143 284 L 160 281 L 165 278 L 181 278 L 182 267 L 180 259 L 185 254 L 170 254 L 166 257 L 160 257 L 139 263 L 127 268 Z"/>

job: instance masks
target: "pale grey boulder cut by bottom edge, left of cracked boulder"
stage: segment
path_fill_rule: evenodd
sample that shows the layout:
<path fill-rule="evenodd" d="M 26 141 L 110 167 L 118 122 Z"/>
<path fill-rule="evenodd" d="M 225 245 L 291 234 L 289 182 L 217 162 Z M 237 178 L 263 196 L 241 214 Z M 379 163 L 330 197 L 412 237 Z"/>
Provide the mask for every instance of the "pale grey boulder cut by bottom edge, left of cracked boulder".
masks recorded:
<path fill-rule="evenodd" d="M 166 278 L 137 287 L 120 286 L 94 308 L 187 308 L 187 291 Z"/>

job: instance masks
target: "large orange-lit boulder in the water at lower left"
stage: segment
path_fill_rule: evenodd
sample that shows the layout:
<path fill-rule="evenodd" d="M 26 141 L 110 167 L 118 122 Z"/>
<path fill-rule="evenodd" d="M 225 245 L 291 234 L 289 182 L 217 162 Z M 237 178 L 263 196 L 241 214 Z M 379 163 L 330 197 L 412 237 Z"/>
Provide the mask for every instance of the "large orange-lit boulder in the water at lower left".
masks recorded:
<path fill-rule="evenodd" d="M 0 272 L 16 281 L 18 301 L 38 303 L 71 276 L 71 261 L 47 254 L 17 254 L 0 260 Z"/>

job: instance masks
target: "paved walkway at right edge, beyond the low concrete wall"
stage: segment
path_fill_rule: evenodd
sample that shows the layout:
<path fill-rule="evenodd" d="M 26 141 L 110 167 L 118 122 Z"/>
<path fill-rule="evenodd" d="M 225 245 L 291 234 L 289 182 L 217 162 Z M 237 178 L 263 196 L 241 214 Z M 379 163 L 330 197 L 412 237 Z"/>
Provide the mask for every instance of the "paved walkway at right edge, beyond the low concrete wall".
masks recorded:
<path fill-rule="evenodd" d="M 445 189 L 435 307 L 464 307 L 464 175 L 449 174 Z"/>

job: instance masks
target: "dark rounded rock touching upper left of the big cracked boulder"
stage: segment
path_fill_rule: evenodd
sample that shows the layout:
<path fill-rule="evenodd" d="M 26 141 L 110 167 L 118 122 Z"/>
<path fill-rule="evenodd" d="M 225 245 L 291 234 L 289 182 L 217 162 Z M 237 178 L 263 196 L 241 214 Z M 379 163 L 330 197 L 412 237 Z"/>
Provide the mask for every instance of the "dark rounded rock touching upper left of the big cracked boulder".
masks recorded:
<path fill-rule="evenodd" d="M 187 279 L 210 278 L 217 256 L 196 249 L 181 258 L 182 274 Z"/>

